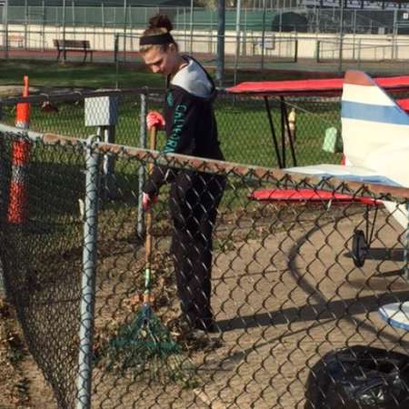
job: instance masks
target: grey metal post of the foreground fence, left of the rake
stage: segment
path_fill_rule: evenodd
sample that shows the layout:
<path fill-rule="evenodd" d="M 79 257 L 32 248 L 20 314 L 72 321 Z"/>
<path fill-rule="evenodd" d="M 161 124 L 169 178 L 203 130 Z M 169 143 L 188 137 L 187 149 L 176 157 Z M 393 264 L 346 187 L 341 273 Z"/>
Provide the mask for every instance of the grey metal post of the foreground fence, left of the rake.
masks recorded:
<path fill-rule="evenodd" d="M 95 138 L 90 137 L 86 143 L 83 274 L 81 282 L 81 324 L 79 329 L 76 409 L 89 409 L 91 407 L 99 190 L 99 154 L 93 152 L 94 141 Z"/>

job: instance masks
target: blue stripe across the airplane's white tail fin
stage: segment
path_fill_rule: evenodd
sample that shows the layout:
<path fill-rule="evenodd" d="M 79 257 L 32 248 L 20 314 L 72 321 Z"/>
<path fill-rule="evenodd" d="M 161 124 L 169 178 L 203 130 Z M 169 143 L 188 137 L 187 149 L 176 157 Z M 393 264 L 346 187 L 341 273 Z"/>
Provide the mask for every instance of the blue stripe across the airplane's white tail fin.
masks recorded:
<path fill-rule="evenodd" d="M 343 101 L 341 115 L 343 118 L 362 121 L 409 125 L 409 116 L 396 105 L 385 106 Z"/>

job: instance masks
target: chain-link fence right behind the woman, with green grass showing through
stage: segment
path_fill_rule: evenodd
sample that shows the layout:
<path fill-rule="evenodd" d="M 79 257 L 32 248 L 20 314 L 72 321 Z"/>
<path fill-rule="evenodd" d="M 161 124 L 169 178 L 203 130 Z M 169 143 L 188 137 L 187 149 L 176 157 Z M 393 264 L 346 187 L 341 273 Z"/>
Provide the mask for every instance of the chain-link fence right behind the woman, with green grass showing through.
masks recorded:
<path fill-rule="evenodd" d="M 110 98 L 117 110 L 116 125 L 87 126 L 85 123 L 86 101 Z M 71 95 L 35 95 L 2 100 L 3 122 L 15 123 L 15 104 L 31 102 L 30 129 L 86 138 L 101 135 L 107 142 L 145 147 L 145 114 L 149 110 L 161 110 L 165 94 L 163 90 L 134 89 L 120 91 L 97 91 Z M 341 156 L 323 150 L 325 130 L 340 130 L 340 96 L 288 96 L 284 99 L 286 113 L 294 109 L 294 150 L 298 165 L 316 163 L 339 163 Z M 282 100 L 268 98 L 272 114 L 272 127 L 263 96 L 232 95 L 220 90 L 214 110 L 218 123 L 219 140 L 224 156 L 229 162 L 247 165 L 277 166 L 274 151 L 274 135 L 284 146 L 287 158 L 291 157 L 288 130 L 282 124 Z M 141 121 L 142 115 L 142 121 Z M 142 128 L 141 128 L 142 126 Z M 142 131 L 141 131 L 142 129 Z M 284 131 L 284 145 L 283 145 Z M 142 135 L 142 139 L 141 139 Z M 165 135 L 159 134 L 159 148 L 165 144 Z M 289 162 L 290 164 L 291 162 Z"/>

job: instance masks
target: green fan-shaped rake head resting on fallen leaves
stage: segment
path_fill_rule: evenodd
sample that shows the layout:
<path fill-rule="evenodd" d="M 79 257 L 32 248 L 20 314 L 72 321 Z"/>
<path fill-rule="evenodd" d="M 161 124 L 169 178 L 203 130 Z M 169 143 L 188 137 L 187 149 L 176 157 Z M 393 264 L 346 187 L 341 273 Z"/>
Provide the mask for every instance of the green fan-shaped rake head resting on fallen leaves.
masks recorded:
<path fill-rule="evenodd" d="M 182 354 L 149 304 L 144 304 L 132 323 L 123 326 L 105 349 L 106 368 L 161 383 L 195 387 L 194 364 Z"/>

